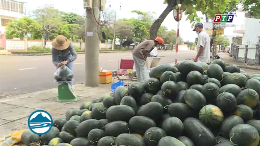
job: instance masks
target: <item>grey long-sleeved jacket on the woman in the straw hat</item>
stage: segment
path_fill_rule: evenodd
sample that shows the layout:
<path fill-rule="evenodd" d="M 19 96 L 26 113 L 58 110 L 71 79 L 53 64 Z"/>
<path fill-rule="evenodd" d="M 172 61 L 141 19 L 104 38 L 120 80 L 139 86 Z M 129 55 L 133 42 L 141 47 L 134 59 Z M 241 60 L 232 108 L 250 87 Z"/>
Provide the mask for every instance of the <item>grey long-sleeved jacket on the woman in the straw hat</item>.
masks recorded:
<path fill-rule="evenodd" d="M 53 47 L 51 48 L 51 58 L 52 63 L 57 66 L 60 61 L 68 61 L 68 63 L 77 59 L 77 53 L 71 43 L 69 43 L 69 47 L 65 50 L 56 50 Z"/>

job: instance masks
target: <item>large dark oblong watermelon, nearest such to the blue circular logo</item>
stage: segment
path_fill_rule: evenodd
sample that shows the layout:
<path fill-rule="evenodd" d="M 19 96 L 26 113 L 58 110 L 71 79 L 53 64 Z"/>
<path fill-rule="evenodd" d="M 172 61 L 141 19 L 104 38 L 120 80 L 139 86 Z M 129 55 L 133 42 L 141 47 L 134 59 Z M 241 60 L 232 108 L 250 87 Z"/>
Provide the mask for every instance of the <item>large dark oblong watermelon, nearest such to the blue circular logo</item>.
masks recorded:
<path fill-rule="evenodd" d="M 90 120 L 85 120 L 76 127 L 76 132 L 78 137 L 88 137 L 88 134 L 90 130 L 92 129 L 101 129 L 102 123 L 99 120 L 95 119 L 90 119 Z"/>

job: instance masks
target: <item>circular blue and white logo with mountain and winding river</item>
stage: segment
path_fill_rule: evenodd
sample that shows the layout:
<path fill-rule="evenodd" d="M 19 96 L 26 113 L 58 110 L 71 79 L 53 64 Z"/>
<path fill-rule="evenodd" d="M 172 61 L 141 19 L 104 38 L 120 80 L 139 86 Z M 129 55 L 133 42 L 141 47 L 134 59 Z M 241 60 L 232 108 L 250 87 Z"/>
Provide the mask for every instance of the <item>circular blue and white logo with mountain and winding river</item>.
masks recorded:
<path fill-rule="evenodd" d="M 36 110 L 28 118 L 28 127 L 34 133 L 43 135 L 52 128 L 52 117 L 45 110 Z"/>

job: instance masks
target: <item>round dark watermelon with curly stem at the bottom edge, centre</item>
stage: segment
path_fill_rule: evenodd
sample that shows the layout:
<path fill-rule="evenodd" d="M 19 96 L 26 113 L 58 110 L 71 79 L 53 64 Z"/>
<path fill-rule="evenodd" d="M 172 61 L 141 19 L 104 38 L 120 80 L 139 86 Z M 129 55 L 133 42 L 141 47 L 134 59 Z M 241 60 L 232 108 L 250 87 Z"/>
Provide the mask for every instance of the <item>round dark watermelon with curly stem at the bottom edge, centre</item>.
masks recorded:
<path fill-rule="evenodd" d="M 158 141 L 162 137 L 165 137 L 166 133 L 159 127 L 151 127 L 147 129 L 143 136 L 143 141 L 145 142 L 146 146 L 157 146 Z"/>

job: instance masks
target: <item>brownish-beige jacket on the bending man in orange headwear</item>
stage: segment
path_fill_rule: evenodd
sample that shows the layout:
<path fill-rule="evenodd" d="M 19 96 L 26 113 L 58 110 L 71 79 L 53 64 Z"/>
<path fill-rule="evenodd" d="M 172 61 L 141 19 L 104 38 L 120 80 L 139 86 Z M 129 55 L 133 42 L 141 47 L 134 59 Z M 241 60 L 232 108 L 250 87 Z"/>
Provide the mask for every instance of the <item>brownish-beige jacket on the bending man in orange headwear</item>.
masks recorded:
<path fill-rule="evenodd" d="M 145 40 L 135 46 L 135 48 L 132 50 L 132 54 L 140 59 L 146 60 L 148 53 L 153 50 L 154 46 L 154 40 Z"/>

